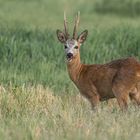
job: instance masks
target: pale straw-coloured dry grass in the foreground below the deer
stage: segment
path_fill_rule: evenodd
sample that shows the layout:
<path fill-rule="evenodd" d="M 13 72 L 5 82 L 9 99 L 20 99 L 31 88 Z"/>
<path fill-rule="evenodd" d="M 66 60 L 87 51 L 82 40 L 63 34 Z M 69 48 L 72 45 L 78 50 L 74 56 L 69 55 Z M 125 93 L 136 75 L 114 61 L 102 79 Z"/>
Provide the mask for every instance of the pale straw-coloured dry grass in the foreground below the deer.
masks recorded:
<path fill-rule="evenodd" d="M 1 139 L 139 139 L 140 112 L 116 102 L 90 110 L 79 95 L 54 96 L 48 88 L 1 86 Z M 14 129 L 13 129 L 14 128 Z"/>

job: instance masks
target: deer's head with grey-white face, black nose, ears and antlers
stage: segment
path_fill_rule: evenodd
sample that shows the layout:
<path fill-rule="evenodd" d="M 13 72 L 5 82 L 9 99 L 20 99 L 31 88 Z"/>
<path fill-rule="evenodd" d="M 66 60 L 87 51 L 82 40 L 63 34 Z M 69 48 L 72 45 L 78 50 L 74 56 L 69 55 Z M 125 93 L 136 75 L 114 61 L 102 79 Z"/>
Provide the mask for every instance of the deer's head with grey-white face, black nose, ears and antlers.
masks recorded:
<path fill-rule="evenodd" d="M 87 30 L 84 30 L 80 35 L 77 34 L 79 20 L 80 20 L 80 13 L 78 12 L 75 18 L 73 36 L 70 37 L 68 33 L 68 28 L 67 28 L 66 16 L 64 13 L 64 32 L 60 30 L 56 31 L 58 40 L 64 45 L 68 62 L 71 62 L 74 58 L 76 58 L 77 54 L 79 53 L 79 48 L 81 44 L 84 43 L 88 35 Z"/>

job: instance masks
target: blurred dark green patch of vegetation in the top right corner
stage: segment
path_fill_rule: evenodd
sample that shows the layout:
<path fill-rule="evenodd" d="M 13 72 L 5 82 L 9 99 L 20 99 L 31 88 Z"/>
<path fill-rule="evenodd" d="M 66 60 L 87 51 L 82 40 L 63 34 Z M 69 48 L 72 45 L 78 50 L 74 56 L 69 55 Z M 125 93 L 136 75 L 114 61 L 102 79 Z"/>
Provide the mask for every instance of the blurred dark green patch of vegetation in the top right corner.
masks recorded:
<path fill-rule="evenodd" d="M 119 16 L 138 16 L 139 7 L 139 0 L 100 0 L 95 3 L 97 13 L 112 13 Z"/>

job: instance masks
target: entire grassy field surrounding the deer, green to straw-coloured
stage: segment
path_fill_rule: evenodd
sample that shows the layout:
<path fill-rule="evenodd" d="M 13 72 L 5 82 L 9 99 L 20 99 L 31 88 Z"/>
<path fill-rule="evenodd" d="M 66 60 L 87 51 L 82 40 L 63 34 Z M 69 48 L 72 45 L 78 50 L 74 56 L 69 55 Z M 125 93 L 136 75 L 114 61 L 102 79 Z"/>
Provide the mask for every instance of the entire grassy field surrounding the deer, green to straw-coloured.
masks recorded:
<path fill-rule="evenodd" d="M 0 139 L 138 140 L 138 109 L 92 112 L 70 81 L 56 38 L 64 11 L 71 32 L 77 11 L 89 31 L 83 63 L 140 60 L 140 0 L 0 0 Z"/>

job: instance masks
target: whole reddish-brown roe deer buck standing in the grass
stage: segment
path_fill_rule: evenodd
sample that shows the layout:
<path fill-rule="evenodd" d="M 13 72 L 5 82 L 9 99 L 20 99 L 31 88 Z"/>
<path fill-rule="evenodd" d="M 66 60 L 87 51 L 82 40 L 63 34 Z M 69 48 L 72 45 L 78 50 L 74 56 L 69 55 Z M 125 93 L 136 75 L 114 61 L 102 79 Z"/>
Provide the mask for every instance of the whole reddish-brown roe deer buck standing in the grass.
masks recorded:
<path fill-rule="evenodd" d="M 128 98 L 140 105 L 140 63 L 132 57 L 107 64 L 86 65 L 80 62 L 80 46 L 88 31 L 77 36 L 79 14 L 75 19 L 73 37 L 69 37 L 64 14 L 64 32 L 57 30 L 58 40 L 64 44 L 67 69 L 80 93 L 95 107 L 99 101 L 116 98 L 121 109 L 127 108 Z"/>

